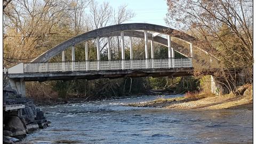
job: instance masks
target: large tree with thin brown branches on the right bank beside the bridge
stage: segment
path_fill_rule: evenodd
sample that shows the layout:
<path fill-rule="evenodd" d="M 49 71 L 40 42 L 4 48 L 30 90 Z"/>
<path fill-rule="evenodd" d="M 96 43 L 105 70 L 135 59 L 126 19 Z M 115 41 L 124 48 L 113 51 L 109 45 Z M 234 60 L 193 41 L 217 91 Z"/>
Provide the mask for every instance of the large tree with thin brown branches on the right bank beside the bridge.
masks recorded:
<path fill-rule="evenodd" d="M 166 22 L 196 37 L 200 40 L 196 44 L 199 48 L 218 58 L 221 69 L 215 79 L 229 92 L 237 87 L 239 69 L 250 73 L 248 80 L 252 78 L 252 3 L 243 0 L 167 1 Z"/>

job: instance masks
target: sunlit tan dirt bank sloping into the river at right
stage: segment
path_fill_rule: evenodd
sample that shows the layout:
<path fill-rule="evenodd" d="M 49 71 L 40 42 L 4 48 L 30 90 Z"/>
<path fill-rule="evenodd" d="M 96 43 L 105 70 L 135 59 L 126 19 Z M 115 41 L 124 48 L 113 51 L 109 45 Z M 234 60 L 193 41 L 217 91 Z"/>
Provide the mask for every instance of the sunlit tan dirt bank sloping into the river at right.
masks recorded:
<path fill-rule="evenodd" d="M 134 103 L 128 106 L 138 107 L 165 107 L 165 108 L 176 108 L 176 109 L 237 109 L 237 108 L 253 108 L 253 96 L 252 88 L 246 88 L 242 90 L 240 95 L 223 95 L 215 96 L 210 93 L 201 92 L 199 94 L 189 94 L 185 97 L 179 98 L 158 98 L 153 101 L 146 103 Z"/>

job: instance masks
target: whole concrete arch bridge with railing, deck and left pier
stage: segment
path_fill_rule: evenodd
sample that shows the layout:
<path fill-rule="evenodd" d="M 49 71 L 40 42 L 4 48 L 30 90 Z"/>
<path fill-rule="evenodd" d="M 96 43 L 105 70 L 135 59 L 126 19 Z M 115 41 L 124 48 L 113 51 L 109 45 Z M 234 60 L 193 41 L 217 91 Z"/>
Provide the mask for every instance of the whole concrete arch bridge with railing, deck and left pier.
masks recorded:
<path fill-rule="evenodd" d="M 121 38 L 121 60 L 111 60 L 110 37 Z M 125 58 L 124 37 L 129 37 L 130 60 Z M 145 59 L 133 59 L 132 40 L 134 37 L 145 39 Z M 189 45 L 189 49 L 181 49 L 181 44 L 172 41 L 178 38 Z M 100 60 L 100 38 L 107 38 L 108 60 Z M 97 61 L 89 61 L 88 41 L 96 40 Z M 175 29 L 148 23 L 127 23 L 95 29 L 70 38 L 47 50 L 35 60 L 19 63 L 7 71 L 11 87 L 25 96 L 25 81 L 100 79 L 121 77 L 181 77 L 193 73 L 193 42 L 196 39 Z M 150 46 L 148 44 L 150 41 Z M 76 61 L 75 45 L 84 44 L 85 61 Z M 154 43 L 164 45 L 168 49 L 168 58 L 154 58 Z M 71 60 L 65 61 L 64 50 L 71 48 Z M 148 54 L 149 48 L 151 54 Z M 182 51 L 183 50 L 183 51 Z M 185 57 L 177 58 L 174 51 Z M 186 54 L 183 52 L 187 52 Z M 48 62 L 52 57 L 62 55 L 61 62 Z"/>

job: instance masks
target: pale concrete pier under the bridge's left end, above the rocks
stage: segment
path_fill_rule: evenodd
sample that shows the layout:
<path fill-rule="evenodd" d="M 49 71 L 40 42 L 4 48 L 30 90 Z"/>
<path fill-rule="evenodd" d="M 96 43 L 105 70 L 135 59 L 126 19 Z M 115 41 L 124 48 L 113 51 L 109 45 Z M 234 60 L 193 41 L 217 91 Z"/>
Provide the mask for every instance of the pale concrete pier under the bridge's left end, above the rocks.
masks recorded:
<path fill-rule="evenodd" d="M 25 81 L 15 81 L 9 79 L 10 86 L 13 90 L 15 90 L 21 97 L 26 97 L 26 84 Z"/>

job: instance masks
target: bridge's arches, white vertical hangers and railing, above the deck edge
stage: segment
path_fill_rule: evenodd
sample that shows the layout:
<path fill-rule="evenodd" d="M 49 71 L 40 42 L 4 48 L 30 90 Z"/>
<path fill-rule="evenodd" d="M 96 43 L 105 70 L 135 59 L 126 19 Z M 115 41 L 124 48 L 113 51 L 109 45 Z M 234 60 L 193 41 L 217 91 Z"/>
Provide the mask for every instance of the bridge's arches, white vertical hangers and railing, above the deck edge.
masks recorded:
<path fill-rule="evenodd" d="M 151 32 L 151 33 L 150 33 Z M 158 35 L 166 35 L 167 38 Z M 110 38 L 114 36 L 121 37 L 121 60 L 111 60 L 110 56 Z M 124 36 L 130 38 L 130 60 L 125 60 L 124 54 Z M 145 60 L 134 60 L 132 50 L 132 37 L 145 38 Z M 171 41 L 171 37 L 186 41 L 190 45 L 190 55 L 180 52 L 180 45 Z M 107 38 L 108 43 L 108 61 L 100 60 L 100 38 Z M 87 41 L 96 39 L 97 42 L 97 61 L 89 61 Z M 148 55 L 148 40 L 151 42 L 151 56 Z M 21 63 L 11 67 L 9 73 L 17 73 L 17 67 L 21 73 L 33 72 L 60 72 L 60 71 L 94 71 L 94 70 L 132 70 L 132 69 L 163 69 L 163 68 L 182 68 L 193 67 L 192 42 L 195 38 L 175 29 L 158 26 L 148 23 L 126 23 L 95 29 L 70 38 L 57 46 L 47 50 L 30 63 Z M 75 45 L 85 42 L 85 61 L 75 61 Z M 156 60 L 154 58 L 154 45 L 159 43 L 168 48 L 168 58 Z M 71 62 L 65 62 L 64 50 L 71 47 Z M 174 50 L 187 58 L 174 58 Z M 62 53 L 62 62 L 47 62 L 50 58 Z"/>

